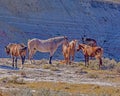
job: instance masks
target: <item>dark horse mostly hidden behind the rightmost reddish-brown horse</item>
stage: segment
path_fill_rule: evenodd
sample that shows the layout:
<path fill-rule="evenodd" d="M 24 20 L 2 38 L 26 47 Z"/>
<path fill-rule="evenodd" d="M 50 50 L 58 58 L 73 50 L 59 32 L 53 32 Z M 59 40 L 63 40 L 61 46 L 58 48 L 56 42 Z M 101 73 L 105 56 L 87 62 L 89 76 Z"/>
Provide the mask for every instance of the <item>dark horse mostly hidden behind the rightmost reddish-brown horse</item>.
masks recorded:
<path fill-rule="evenodd" d="M 82 37 L 82 42 L 83 44 L 87 44 L 89 46 L 97 46 L 97 42 L 95 39 L 92 39 L 92 38 L 85 38 L 85 37 Z"/>

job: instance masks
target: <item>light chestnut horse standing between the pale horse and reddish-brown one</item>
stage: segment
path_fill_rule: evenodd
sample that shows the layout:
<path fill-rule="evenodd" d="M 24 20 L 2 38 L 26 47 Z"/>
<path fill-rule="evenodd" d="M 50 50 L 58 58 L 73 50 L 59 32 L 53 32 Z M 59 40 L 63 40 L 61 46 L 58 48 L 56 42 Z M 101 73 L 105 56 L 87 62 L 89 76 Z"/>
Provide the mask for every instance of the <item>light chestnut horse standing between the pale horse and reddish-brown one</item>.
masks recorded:
<path fill-rule="evenodd" d="M 77 43 L 78 43 L 77 40 L 72 40 L 71 42 L 63 43 L 62 53 L 63 53 L 66 64 L 70 63 L 71 57 L 72 57 L 72 61 L 74 61 L 74 56 L 75 56 L 76 44 Z"/>

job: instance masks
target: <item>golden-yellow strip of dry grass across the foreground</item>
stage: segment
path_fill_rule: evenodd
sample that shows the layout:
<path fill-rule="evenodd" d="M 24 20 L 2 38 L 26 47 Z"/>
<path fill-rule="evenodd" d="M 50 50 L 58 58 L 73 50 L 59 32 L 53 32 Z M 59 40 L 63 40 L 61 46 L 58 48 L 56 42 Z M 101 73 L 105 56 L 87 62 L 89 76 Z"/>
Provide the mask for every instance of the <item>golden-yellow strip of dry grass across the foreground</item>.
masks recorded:
<path fill-rule="evenodd" d="M 72 94 L 96 94 L 98 96 L 119 96 L 119 88 L 110 87 L 110 86 L 98 86 L 93 84 L 69 84 L 69 83 L 54 83 L 54 82 L 37 82 L 27 84 L 29 88 L 32 89 L 49 89 L 54 91 L 62 91 Z"/>

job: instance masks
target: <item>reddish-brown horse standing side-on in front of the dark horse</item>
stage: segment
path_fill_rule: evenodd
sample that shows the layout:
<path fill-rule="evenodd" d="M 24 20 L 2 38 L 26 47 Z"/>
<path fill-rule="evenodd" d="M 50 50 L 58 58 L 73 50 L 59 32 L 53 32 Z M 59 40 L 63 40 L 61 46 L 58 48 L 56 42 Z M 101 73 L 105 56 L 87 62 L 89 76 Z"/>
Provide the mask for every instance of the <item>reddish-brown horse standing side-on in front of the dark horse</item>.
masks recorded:
<path fill-rule="evenodd" d="M 86 44 L 79 44 L 77 51 L 82 50 L 85 58 L 85 66 L 89 65 L 89 57 L 95 57 L 99 59 L 99 69 L 102 65 L 102 55 L 103 55 L 103 48 L 95 46 L 89 46 Z"/>

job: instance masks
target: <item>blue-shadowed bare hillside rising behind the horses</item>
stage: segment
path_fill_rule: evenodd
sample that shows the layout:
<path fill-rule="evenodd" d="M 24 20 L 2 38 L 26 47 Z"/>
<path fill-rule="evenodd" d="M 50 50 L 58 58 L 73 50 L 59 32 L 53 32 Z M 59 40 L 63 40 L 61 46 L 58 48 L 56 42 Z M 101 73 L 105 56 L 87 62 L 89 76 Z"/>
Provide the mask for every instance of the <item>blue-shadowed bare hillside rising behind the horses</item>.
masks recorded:
<path fill-rule="evenodd" d="M 69 40 L 87 37 L 104 48 L 104 57 L 120 60 L 119 0 L 0 0 L 0 57 L 4 46 L 28 39 L 66 35 Z M 62 59 L 61 48 L 54 59 Z M 76 54 L 76 60 L 82 58 Z M 48 54 L 38 53 L 36 59 Z"/>

